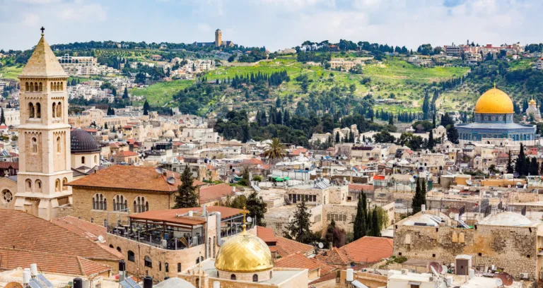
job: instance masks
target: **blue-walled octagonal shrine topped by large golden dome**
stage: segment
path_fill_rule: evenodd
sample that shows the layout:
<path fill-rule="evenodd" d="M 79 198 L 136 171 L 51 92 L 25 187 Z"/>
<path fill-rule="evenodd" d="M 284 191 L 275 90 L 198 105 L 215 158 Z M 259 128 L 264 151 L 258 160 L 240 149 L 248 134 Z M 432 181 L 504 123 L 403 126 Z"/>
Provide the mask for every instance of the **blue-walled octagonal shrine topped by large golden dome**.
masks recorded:
<path fill-rule="evenodd" d="M 510 139 L 513 143 L 535 145 L 535 125 L 513 121 L 513 101 L 502 90 L 492 88 L 475 104 L 474 122 L 456 126 L 460 144 L 487 143 Z"/>

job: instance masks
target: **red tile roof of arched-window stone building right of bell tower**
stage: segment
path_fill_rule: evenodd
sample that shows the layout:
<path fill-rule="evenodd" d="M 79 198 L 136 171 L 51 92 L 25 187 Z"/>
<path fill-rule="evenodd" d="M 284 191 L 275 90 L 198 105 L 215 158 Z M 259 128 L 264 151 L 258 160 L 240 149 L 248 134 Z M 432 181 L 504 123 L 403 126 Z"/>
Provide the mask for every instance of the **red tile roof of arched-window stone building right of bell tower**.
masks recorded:
<path fill-rule="evenodd" d="M 141 167 L 129 165 L 114 165 L 102 169 L 97 173 L 89 174 L 83 178 L 71 181 L 68 185 L 74 187 L 100 187 L 146 190 L 157 192 L 174 192 L 181 185 L 179 174 L 166 171 L 167 174 L 157 174 L 154 167 Z M 173 176 L 175 184 L 168 184 L 166 179 Z M 204 182 L 194 180 L 194 186 L 203 185 Z"/>

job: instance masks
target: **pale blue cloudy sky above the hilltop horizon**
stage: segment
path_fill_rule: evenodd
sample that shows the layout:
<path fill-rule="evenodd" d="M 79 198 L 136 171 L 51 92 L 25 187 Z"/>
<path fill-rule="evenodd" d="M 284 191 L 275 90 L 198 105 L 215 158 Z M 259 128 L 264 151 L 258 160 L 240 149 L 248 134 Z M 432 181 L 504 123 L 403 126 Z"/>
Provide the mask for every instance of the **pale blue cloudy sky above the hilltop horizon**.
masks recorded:
<path fill-rule="evenodd" d="M 0 49 L 86 41 L 539 43 L 542 0 L 0 0 Z"/>

